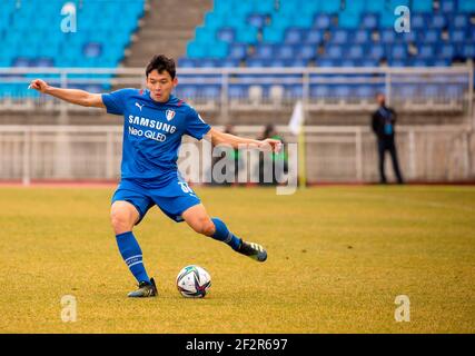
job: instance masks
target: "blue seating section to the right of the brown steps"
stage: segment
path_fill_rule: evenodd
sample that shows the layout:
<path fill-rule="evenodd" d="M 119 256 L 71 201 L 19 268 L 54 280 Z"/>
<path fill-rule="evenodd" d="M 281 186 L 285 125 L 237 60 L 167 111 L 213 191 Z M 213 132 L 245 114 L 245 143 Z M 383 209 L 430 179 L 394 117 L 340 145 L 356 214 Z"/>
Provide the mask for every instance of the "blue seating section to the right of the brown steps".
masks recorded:
<path fill-rule="evenodd" d="M 409 32 L 394 30 L 398 6 L 412 9 Z M 179 63 L 186 68 L 449 67 L 475 58 L 474 12 L 475 2 L 469 0 L 216 0 Z M 263 96 L 268 97 L 280 80 L 261 85 Z M 182 89 L 199 92 L 202 87 Z M 237 83 L 229 93 L 246 97 L 250 87 Z M 284 86 L 285 96 L 298 97 L 297 87 Z M 370 99 L 382 89 L 367 83 L 314 83 L 310 97 Z M 434 83 L 422 97 L 451 97 L 457 90 L 463 89 Z"/>

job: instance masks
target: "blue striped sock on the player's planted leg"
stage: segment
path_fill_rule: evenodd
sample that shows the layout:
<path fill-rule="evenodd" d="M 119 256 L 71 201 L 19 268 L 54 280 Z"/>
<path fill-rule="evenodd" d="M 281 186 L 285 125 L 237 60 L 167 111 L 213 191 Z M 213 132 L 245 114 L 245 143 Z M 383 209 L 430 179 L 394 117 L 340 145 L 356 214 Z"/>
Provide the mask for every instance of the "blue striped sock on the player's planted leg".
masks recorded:
<path fill-rule="evenodd" d="M 123 260 L 126 261 L 133 277 L 136 277 L 137 281 L 150 283 L 150 278 L 148 278 L 147 271 L 144 267 L 142 251 L 132 231 L 119 234 L 116 236 L 116 239 L 117 245 L 119 246 L 120 255 L 122 255 Z"/>

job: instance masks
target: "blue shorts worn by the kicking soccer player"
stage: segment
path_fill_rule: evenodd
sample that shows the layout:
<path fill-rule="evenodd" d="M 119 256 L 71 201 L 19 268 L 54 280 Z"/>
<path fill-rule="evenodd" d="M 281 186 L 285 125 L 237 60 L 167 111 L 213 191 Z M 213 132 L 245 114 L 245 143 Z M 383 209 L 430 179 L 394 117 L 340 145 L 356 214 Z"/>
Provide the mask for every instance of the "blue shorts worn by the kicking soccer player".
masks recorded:
<path fill-rule="evenodd" d="M 112 202 L 125 200 L 133 205 L 139 212 L 139 224 L 152 206 L 158 206 L 170 219 L 176 222 L 184 221 L 181 214 L 188 208 L 200 204 L 201 200 L 177 176 L 170 179 L 164 187 L 148 188 L 132 179 L 122 179 L 112 196 Z"/>

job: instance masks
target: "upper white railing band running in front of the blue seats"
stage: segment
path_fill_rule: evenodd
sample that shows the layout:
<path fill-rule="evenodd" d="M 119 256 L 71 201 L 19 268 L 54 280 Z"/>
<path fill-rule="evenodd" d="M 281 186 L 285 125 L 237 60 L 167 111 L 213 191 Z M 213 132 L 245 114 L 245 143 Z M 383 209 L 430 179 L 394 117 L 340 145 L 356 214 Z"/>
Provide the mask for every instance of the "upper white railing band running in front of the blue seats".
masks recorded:
<path fill-rule="evenodd" d="M 36 77 L 58 87 L 89 86 L 99 91 L 145 87 L 142 68 L 0 68 L 0 109 L 82 109 L 43 96 L 30 96 L 26 88 Z M 308 111 L 370 110 L 375 91 L 385 91 L 388 103 L 397 105 L 399 111 L 473 112 L 471 61 L 443 68 L 185 68 L 178 70 L 178 95 L 199 110 L 220 112 L 225 121 L 232 110 L 273 111 L 289 108 L 297 99 L 303 99 Z M 8 83 L 24 90 L 9 95 L 3 86 Z M 190 85 L 208 86 L 211 90 L 187 90 Z M 236 92 L 239 86 L 246 87 L 244 95 Z"/>

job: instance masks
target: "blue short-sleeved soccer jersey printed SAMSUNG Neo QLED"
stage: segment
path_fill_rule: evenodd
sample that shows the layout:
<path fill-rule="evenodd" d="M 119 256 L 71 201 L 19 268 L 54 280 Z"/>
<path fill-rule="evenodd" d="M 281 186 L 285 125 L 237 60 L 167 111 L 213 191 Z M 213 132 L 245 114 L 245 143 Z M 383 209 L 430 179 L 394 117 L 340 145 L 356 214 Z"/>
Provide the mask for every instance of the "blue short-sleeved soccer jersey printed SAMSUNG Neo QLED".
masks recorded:
<path fill-rule="evenodd" d="M 181 137 L 201 139 L 209 130 L 194 108 L 175 96 L 165 102 L 149 90 L 120 89 L 102 95 L 107 112 L 123 116 L 122 179 L 160 186 L 177 175 Z"/>

